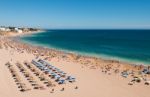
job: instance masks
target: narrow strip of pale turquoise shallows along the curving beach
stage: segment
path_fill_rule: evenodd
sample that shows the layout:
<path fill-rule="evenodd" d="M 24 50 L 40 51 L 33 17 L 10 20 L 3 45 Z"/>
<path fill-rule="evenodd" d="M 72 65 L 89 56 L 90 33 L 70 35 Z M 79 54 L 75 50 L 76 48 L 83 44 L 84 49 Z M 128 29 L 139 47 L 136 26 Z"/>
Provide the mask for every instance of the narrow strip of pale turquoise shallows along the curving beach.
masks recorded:
<path fill-rule="evenodd" d="M 45 32 L 45 31 L 43 30 L 43 31 L 39 31 L 39 32 L 36 32 L 36 33 L 43 33 L 43 32 Z M 31 32 L 31 33 L 28 33 L 28 34 L 22 34 L 22 35 L 14 37 L 14 38 L 20 38 L 20 37 L 23 37 L 24 35 L 32 35 L 32 34 L 34 35 L 36 33 L 35 32 L 33 32 L 33 33 Z M 32 42 L 29 43 L 30 41 L 24 41 L 24 40 L 21 40 L 21 39 L 19 39 L 19 40 L 21 42 L 25 43 L 25 44 L 32 45 Z M 125 64 L 136 64 L 136 65 L 144 65 L 144 66 L 149 66 L 150 65 L 150 63 L 148 63 L 148 62 L 142 61 L 142 60 L 138 60 L 138 59 L 135 59 L 135 60 L 131 59 L 130 60 L 128 58 L 117 57 L 117 56 L 113 57 L 113 56 L 105 55 L 105 54 L 96 55 L 96 54 L 93 54 L 93 53 L 70 51 L 70 50 L 64 50 L 64 49 L 61 49 L 61 48 L 45 46 L 45 45 L 38 44 L 38 43 L 35 43 L 33 46 L 48 48 L 50 50 L 61 51 L 61 52 L 64 52 L 64 53 L 71 53 L 71 54 L 75 54 L 75 55 L 79 55 L 79 56 L 83 56 L 83 57 L 99 58 L 101 60 L 108 60 L 108 61 L 119 61 L 119 62 L 125 63 Z"/>

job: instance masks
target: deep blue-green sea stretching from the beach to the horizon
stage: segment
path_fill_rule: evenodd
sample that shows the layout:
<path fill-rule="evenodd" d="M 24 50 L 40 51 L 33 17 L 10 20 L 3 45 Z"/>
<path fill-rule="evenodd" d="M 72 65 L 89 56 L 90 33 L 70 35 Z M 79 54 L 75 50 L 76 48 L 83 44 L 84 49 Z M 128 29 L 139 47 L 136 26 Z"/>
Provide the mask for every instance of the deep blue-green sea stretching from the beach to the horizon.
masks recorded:
<path fill-rule="evenodd" d="M 22 42 L 108 60 L 150 64 L 150 30 L 46 30 Z"/>

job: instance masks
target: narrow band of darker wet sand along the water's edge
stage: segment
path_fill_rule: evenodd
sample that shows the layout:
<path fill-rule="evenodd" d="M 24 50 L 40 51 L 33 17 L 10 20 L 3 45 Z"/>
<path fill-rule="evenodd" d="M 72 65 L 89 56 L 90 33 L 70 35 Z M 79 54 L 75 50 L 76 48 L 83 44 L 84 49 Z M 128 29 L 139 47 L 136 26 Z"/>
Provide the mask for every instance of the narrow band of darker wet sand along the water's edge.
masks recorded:
<path fill-rule="evenodd" d="M 42 33 L 42 32 L 37 32 L 37 33 Z M 34 33 L 30 33 L 28 35 L 32 35 Z M 21 37 L 24 36 L 24 35 L 21 35 Z M 102 57 L 95 57 L 95 56 L 88 56 L 88 55 L 83 55 L 83 54 L 79 54 L 79 53 L 76 53 L 76 52 L 71 52 L 71 51 L 64 51 L 64 50 L 60 50 L 60 49 L 56 49 L 56 48 L 49 48 L 49 47 L 46 47 L 46 46 L 43 46 L 43 45 L 33 45 L 33 44 L 30 44 L 30 43 L 26 43 L 26 42 L 23 42 L 23 41 L 20 41 L 20 39 L 18 40 L 18 38 L 20 38 L 20 36 L 16 36 L 16 37 L 9 37 L 12 41 L 14 42 L 17 42 L 19 44 L 23 44 L 23 45 L 27 45 L 27 46 L 31 46 L 31 47 L 35 47 L 37 49 L 44 49 L 44 50 L 48 50 L 48 51 L 52 51 L 52 52 L 58 52 L 58 53 L 61 53 L 61 54 L 66 54 L 66 55 L 71 55 L 71 56 L 80 56 L 80 57 L 83 57 L 83 58 L 87 58 L 87 59 L 98 59 L 98 60 L 101 60 L 101 61 L 104 61 L 104 62 L 113 62 L 113 63 L 120 63 L 120 64 L 123 64 L 123 65 L 126 65 L 127 67 L 128 66 L 131 66 L 131 67 L 134 67 L 134 66 L 137 66 L 137 67 L 140 67 L 140 66 L 143 66 L 143 67 L 147 67 L 149 65 L 145 65 L 144 63 L 141 63 L 141 64 L 136 64 L 135 62 L 126 62 L 126 61 L 120 61 L 119 59 L 117 60 L 113 60 L 113 59 L 109 59 L 109 58 L 102 58 Z M 126 67 L 125 66 L 125 67 Z M 133 69 L 133 68 L 131 68 Z"/>

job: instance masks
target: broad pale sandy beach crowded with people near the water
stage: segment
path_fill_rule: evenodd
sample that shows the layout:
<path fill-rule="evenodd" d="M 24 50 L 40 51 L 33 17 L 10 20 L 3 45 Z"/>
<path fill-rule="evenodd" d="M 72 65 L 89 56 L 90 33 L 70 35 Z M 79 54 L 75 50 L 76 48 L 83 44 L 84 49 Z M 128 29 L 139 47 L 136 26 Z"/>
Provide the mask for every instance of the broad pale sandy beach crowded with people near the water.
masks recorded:
<path fill-rule="evenodd" d="M 42 59 L 75 77 L 75 82 L 58 84 L 32 61 Z M 25 63 L 29 63 L 30 68 Z M 79 56 L 35 47 L 0 37 L 0 97 L 149 97 L 150 76 L 146 66 Z M 32 69 L 35 69 L 32 71 Z M 35 72 L 39 75 L 35 75 Z M 35 89 L 31 80 L 36 82 Z M 15 76 L 13 76 L 15 75 Z M 41 80 L 40 76 L 44 76 Z M 17 80 L 17 81 L 16 81 Z M 19 80 L 19 81 L 18 81 Z M 50 81 L 48 84 L 46 81 Z M 22 88 L 18 86 L 21 85 Z"/>

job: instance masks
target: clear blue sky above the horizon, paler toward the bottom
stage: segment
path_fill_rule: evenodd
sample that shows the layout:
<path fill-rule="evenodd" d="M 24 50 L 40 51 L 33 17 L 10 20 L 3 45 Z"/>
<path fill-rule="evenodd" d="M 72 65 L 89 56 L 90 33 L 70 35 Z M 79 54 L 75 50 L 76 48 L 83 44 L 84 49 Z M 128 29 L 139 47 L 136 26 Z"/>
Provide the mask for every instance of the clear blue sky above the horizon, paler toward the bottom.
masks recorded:
<path fill-rule="evenodd" d="M 0 0 L 0 25 L 150 28 L 150 0 Z"/>

